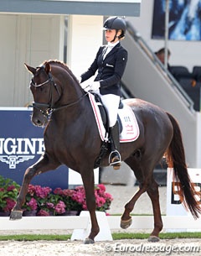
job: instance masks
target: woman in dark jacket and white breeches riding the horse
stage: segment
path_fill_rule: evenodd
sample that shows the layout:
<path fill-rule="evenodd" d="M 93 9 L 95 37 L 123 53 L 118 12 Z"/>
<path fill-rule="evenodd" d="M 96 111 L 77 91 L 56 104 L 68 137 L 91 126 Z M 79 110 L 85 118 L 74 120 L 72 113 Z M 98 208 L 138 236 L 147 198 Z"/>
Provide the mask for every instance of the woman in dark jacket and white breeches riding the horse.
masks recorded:
<path fill-rule="evenodd" d="M 79 80 L 86 81 L 98 71 L 95 81 L 87 86 L 85 91 L 91 90 L 98 94 L 106 107 L 111 138 L 109 164 L 119 169 L 121 155 L 117 111 L 121 98 L 121 77 L 127 62 L 127 51 L 121 46 L 120 40 L 125 37 L 126 22 L 124 18 L 110 17 L 106 19 L 103 29 L 107 44 L 100 47 L 90 68 Z"/>

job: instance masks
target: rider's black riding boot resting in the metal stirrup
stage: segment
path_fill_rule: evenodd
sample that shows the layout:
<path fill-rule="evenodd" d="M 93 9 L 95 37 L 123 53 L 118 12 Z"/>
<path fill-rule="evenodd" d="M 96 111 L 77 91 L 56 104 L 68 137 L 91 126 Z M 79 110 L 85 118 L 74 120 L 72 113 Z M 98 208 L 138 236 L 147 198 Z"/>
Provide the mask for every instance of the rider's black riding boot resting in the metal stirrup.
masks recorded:
<path fill-rule="evenodd" d="M 115 170 L 120 169 L 121 155 L 120 140 L 119 140 L 119 125 L 118 122 L 110 128 L 111 132 L 111 154 L 109 155 L 109 164 L 113 166 Z"/>

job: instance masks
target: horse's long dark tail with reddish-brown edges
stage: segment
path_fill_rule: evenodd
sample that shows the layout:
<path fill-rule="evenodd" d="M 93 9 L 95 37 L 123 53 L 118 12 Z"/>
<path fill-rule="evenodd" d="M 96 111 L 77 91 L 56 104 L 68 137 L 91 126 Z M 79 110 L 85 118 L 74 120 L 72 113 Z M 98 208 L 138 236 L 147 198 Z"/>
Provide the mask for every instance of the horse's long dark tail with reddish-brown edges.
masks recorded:
<path fill-rule="evenodd" d="M 195 191 L 187 170 L 182 133 L 178 126 L 178 122 L 173 116 L 168 113 L 168 118 L 173 124 L 173 138 L 166 152 L 168 160 L 168 167 L 173 168 L 174 176 L 177 180 L 178 196 L 180 201 L 183 202 L 183 206 L 188 208 L 194 218 L 198 218 L 198 214 L 201 213 L 199 202 L 196 201 L 195 195 L 200 197 L 200 192 Z"/>

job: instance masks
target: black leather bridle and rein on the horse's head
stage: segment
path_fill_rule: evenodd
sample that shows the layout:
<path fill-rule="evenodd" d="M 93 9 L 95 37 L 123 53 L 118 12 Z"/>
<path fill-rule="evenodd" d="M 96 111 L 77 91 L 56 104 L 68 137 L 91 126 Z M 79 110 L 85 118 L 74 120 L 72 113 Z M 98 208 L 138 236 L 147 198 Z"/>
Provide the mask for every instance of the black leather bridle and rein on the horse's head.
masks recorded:
<path fill-rule="evenodd" d="M 44 66 L 42 67 L 39 67 L 39 68 L 44 68 Z M 59 92 L 59 89 L 58 89 L 58 86 L 57 84 L 54 82 L 54 78 L 51 74 L 51 72 L 49 71 L 49 74 L 48 74 L 48 79 L 47 81 L 44 81 L 43 83 L 41 84 L 37 84 L 36 82 L 33 81 L 33 78 L 30 82 L 30 86 L 33 86 L 35 88 L 38 88 L 38 87 L 41 87 L 41 86 L 44 86 L 46 84 L 50 84 L 50 90 L 49 90 L 49 103 L 40 103 L 40 102 L 33 102 L 33 107 L 34 108 L 37 108 L 39 109 L 39 111 L 44 115 L 45 118 L 50 118 L 52 113 L 54 111 L 58 111 L 59 109 L 62 109 L 64 107 L 71 107 L 71 106 L 74 106 L 75 104 L 77 104 L 78 102 L 80 102 L 83 97 L 85 97 L 88 93 L 85 93 L 83 94 L 77 101 L 75 102 L 72 102 L 72 103 L 69 103 L 69 104 L 65 104 L 63 106 L 60 106 L 60 107 L 54 107 L 54 98 L 53 98 L 53 89 L 55 89 L 59 95 L 59 99 L 61 97 L 61 92 Z M 57 102 L 59 101 L 59 99 L 57 100 Z M 44 110 L 45 108 L 45 110 Z"/>

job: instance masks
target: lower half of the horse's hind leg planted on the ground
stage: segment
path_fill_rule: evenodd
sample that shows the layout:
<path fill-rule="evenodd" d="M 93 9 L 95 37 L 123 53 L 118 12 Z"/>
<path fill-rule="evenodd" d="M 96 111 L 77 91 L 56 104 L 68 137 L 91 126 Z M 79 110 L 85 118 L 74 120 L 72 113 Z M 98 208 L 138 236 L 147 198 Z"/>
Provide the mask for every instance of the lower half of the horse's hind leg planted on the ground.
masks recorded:
<path fill-rule="evenodd" d="M 152 201 L 152 209 L 153 209 L 153 216 L 154 216 L 154 228 L 148 238 L 150 242 L 158 242 L 159 232 L 162 230 L 162 217 L 161 217 L 161 209 L 159 204 L 159 193 L 158 193 L 158 185 L 155 180 L 152 180 L 149 187 L 147 188 L 147 194 Z"/>

